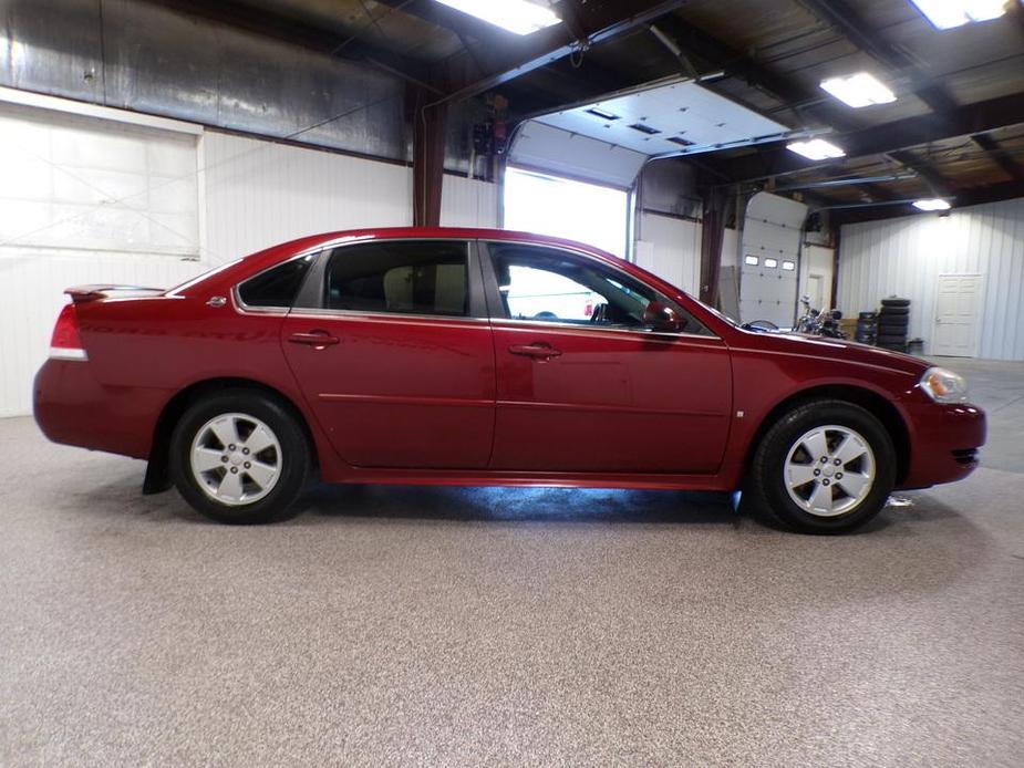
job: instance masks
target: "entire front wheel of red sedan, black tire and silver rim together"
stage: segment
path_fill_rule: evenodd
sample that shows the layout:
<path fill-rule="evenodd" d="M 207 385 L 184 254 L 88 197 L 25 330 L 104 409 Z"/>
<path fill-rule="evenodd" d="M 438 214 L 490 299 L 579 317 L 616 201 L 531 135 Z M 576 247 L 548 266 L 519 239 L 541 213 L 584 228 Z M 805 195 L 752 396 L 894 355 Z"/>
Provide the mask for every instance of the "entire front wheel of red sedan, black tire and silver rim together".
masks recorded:
<path fill-rule="evenodd" d="M 852 442 L 840 448 L 847 438 Z M 810 455 L 823 452 L 826 464 Z M 846 482 L 840 470 L 846 470 Z M 804 477 L 806 482 L 794 485 Z M 845 533 L 878 515 L 894 484 L 896 449 L 882 424 L 858 405 L 816 399 L 768 428 L 754 453 L 743 497 L 744 506 L 767 522 L 804 533 Z"/>

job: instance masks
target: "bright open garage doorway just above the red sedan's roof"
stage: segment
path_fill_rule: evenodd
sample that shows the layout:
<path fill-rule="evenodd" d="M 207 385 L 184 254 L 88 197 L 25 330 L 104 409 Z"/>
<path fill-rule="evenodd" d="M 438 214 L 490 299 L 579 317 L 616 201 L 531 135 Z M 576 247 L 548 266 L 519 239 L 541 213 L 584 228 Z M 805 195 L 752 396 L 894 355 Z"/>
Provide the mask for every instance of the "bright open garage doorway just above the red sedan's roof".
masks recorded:
<path fill-rule="evenodd" d="M 510 167 L 505 228 L 578 240 L 625 258 L 629 194 Z"/>

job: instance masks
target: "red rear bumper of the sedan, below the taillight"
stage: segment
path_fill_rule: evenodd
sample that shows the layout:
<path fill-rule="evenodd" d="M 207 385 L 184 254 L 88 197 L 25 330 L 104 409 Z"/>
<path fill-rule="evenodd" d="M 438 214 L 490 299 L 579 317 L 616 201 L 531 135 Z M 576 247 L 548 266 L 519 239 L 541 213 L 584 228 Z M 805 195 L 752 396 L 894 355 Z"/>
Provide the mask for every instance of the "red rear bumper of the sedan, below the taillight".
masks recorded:
<path fill-rule="evenodd" d="M 54 443 L 146 458 L 170 393 L 105 386 L 87 362 L 48 360 L 35 374 L 33 414 Z"/>

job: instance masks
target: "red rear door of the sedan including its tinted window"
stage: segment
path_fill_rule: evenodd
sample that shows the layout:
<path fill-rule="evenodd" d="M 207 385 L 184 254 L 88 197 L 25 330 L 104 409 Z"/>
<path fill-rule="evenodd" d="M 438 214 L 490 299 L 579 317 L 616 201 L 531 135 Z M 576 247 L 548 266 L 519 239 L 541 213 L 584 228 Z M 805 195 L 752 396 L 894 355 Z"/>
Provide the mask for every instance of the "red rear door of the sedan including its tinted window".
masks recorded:
<path fill-rule="evenodd" d="M 282 344 L 353 466 L 483 468 L 495 366 L 475 243 L 371 240 L 324 252 Z"/>

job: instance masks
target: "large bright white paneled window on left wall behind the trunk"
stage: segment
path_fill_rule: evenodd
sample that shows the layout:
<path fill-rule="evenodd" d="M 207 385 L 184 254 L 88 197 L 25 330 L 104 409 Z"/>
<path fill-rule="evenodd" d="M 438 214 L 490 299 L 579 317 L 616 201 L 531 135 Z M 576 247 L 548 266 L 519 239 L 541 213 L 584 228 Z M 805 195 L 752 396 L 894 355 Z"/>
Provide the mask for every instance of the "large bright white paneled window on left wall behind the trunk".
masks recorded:
<path fill-rule="evenodd" d="M 199 255 L 196 136 L 0 105 L 0 241 Z"/>

